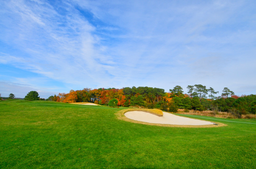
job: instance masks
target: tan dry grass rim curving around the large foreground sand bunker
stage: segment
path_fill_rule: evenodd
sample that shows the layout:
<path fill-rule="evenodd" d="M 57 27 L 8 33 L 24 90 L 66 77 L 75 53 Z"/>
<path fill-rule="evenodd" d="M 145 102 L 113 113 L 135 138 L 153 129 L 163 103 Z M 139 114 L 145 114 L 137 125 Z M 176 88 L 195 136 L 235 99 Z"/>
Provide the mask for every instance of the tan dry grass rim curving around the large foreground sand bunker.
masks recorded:
<path fill-rule="evenodd" d="M 145 112 L 148 112 L 148 109 L 124 109 L 124 110 L 120 110 L 118 112 L 116 112 L 116 117 L 119 120 L 124 120 L 127 122 L 132 122 L 132 123 L 138 123 L 138 124 L 147 124 L 147 125 L 154 125 L 154 126 L 163 126 L 163 127 L 189 127 L 189 128 L 208 128 L 208 127 L 222 127 L 222 126 L 227 126 L 226 124 L 223 123 L 216 123 L 216 122 L 212 122 L 218 125 L 214 125 L 214 124 L 209 124 L 209 125 L 175 125 L 175 124 L 157 124 L 157 123 L 147 123 L 147 122 L 141 122 L 141 121 L 137 121 L 137 120 L 132 120 L 129 119 L 127 117 L 124 116 L 124 113 L 128 112 L 128 111 L 143 111 L 146 110 Z M 150 109 L 152 110 L 152 109 Z M 155 109 L 154 109 L 155 110 Z M 163 113 L 163 112 L 162 112 Z"/>

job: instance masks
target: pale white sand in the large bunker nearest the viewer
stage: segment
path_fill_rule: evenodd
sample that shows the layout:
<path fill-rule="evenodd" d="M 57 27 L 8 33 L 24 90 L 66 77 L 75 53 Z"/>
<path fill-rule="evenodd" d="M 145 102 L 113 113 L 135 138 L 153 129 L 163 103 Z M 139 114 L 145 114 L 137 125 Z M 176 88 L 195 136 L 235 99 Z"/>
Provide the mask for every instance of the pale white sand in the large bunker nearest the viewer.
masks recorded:
<path fill-rule="evenodd" d="M 163 116 L 156 116 L 151 113 L 144 111 L 128 111 L 124 113 L 129 119 L 147 122 L 147 123 L 158 123 L 158 124 L 175 124 L 175 125 L 208 125 L 214 124 L 212 122 L 196 120 L 187 117 L 176 116 L 171 113 L 163 112 Z"/>

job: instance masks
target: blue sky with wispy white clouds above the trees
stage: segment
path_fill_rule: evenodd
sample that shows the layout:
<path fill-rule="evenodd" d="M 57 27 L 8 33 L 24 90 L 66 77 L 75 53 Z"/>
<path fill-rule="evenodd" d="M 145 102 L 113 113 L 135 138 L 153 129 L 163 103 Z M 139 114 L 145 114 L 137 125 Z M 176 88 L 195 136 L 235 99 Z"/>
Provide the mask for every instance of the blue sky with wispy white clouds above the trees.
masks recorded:
<path fill-rule="evenodd" d="M 2 96 L 195 84 L 249 95 L 255 64 L 253 0 L 0 1 Z"/>

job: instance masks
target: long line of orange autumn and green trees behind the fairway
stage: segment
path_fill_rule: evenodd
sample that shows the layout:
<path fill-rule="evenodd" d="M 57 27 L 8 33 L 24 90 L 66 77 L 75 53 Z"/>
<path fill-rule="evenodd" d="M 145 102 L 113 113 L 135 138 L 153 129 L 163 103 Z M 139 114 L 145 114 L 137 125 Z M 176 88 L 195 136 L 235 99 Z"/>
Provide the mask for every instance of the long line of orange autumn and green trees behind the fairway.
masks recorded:
<path fill-rule="evenodd" d="M 177 112 L 178 109 L 235 111 L 238 114 L 256 113 L 256 95 L 237 96 L 228 88 L 223 88 L 221 96 L 218 91 L 206 88 L 201 84 L 188 85 L 188 94 L 183 88 L 175 86 L 169 92 L 161 88 L 126 87 L 70 90 L 69 93 L 59 93 L 50 96 L 49 101 L 56 102 L 93 102 L 100 105 L 137 106 L 142 108 L 158 108 L 165 111 Z M 114 99 L 114 100 L 113 100 Z M 115 102 L 115 104 L 113 104 Z"/>

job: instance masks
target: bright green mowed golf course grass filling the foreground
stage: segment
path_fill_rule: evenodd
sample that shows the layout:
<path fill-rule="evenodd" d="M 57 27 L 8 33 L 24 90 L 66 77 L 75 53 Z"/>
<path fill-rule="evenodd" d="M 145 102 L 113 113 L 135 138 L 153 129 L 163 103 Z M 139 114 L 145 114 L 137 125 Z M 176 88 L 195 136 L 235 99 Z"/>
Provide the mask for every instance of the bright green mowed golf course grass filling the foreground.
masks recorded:
<path fill-rule="evenodd" d="M 2 101 L 0 168 L 256 166 L 255 120 L 190 115 L 228 126 L 172 128 L 118 120 L 118 110 L 50 101 Z"/>

